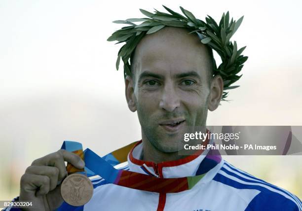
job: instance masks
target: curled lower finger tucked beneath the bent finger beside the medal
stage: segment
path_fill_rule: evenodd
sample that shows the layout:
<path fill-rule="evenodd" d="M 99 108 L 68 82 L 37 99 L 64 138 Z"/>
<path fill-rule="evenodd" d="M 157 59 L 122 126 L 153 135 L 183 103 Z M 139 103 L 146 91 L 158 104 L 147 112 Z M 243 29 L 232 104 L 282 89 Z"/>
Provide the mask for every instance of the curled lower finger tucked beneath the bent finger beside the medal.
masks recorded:
<path fill-rule="evenodd" d="M 50 189 L 48 176 L 24 174 L 20 181 L 21 194 L 45 195 Z"/>

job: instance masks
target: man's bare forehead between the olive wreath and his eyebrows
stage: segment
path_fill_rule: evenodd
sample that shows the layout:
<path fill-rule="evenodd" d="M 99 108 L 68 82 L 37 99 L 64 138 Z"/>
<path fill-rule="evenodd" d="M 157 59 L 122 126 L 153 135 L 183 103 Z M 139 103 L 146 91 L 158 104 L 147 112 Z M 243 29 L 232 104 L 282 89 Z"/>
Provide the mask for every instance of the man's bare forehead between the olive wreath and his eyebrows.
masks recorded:
<path fill-rule="evenodd" d="M 165 27 L 146 35 L 135 51 L 135 75 L 148 70 L 160 74 L 179 74 L 196 71 L 205 76 L 210 56 L 197 35 L 185 29 Z"/>

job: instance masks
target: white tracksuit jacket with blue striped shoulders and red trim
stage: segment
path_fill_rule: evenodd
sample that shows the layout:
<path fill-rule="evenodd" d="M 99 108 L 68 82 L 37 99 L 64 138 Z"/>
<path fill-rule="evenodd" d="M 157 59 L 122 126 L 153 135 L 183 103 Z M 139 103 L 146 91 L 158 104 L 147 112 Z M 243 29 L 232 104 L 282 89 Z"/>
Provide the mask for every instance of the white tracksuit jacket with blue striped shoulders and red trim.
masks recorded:
<path fill-rule="evenodd" d="M 148 174 L 145 164 L 161 177 L 195 176 L 205 155 L 192 159 L 162 162 L 139 160 L 142 143 L 131 150 L 123 169 Z M 144 170 L 145 169 L 145 170 Z M 288 191 L 251 176 L 222 160 L 190 190 L 159 194 L 92 179 L 94 194 L 84 211 L 302 211 L 298 197 Z M 60 210 L 66 210 L 63 208 Z M 79 208 L 78 208 L 79 209 Z M 82 209 L 82 208 L 80 208 Z M 79 209 L 79 210 L 80 210 Z"/>

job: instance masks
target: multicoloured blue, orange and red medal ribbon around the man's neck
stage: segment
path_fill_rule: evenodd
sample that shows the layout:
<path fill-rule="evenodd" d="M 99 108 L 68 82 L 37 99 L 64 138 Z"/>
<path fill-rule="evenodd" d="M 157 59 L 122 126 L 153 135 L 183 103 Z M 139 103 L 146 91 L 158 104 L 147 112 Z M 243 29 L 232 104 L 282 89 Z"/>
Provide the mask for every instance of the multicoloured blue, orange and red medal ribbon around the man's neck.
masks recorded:
<path fill-rule="evenodd" d="M 83 152 L 82 144 L 75 141 L 64 141 L 61 148 L 76 152 L 80 156 L 83 154 L 87 176 L 99 175 L 112 184 L 156 193 L 178 193 L 189 190 L 221 161 L 220 155 L 211 155 L 210 151 L 200 163 L 196 176 L 179 178 L 160 178 L 115 169 L 113 166 L 127 161 L 129 151 L 137 142 L 117 149 L 104 157 L 98 156 L 89 148 Z M 73 166 L 67 168 L 69 171 L 76 171 L 76 168 Z"/>

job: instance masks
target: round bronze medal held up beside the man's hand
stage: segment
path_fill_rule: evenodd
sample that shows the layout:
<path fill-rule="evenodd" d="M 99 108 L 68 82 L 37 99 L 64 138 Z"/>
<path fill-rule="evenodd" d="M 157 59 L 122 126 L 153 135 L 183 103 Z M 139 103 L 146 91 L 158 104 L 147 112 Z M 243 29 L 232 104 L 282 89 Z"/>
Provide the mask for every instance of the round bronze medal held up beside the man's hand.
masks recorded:
<path fill-rule="evenodd" d="M 93 195 L 93 185 L 90 179 L 82 174 L 67 176 L 61 185 L 63 200 L 72 206 L 83 206 Z"/>

